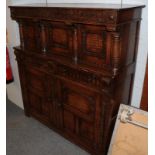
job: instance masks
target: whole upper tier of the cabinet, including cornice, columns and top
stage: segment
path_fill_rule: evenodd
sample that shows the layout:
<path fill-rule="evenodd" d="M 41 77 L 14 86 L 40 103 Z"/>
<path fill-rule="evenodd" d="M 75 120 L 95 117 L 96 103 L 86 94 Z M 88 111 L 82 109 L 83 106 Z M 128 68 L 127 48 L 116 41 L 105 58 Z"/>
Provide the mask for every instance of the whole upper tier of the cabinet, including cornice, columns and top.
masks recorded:
<path fill-rule="evenodd" d="M 23 50 L 97 68 L 108 65 L 116 75 L 126 62 L 128 65 L 135 61 L 142 7 L 40 4 L 10 9 L 12 19 L 19 23 Z"/>

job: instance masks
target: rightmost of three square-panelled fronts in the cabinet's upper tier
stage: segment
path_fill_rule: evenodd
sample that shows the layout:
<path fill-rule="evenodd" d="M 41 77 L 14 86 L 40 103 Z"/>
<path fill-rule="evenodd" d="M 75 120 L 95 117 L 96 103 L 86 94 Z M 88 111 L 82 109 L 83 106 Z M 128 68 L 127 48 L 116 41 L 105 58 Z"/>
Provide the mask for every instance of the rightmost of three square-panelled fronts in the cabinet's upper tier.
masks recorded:
<path fill-rule="evenodd" d="M 80 53 L 82 63 L 102 67 L 108 62 L 107 32 L 102 26 L 84 25 L 80 33 Z"/>

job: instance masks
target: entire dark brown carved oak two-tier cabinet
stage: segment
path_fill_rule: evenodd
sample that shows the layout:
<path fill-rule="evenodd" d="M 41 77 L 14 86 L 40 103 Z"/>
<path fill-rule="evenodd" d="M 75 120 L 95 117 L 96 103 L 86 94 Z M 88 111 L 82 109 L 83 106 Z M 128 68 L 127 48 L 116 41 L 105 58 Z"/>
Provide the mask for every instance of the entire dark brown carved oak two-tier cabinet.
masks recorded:
<path fill-rule="evenodd" d="M 119 104 L 130 103 L 143 7 L 10 6 L 25 114 L 106 155 Z"/>

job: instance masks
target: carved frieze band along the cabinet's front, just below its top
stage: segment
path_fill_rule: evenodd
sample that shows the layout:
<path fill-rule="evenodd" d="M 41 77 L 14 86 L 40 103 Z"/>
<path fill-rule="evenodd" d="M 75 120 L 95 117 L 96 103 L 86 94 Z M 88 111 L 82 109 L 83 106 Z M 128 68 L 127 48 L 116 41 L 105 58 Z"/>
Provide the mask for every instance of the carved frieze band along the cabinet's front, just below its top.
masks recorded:
<path fill-rule="evenodd" d="M 38 11 L 37 11 L 38 10 Z M 89 9 L 65 9 L 65 8 L 12 8 L 11 17 L 31 18 L 31 19 L 50 19 L 56 21 L 76 21 L 79 23 L 95 24 L 115 24 L 117 20 L 117 11 L 113 10 L 94 10 Z"/>

